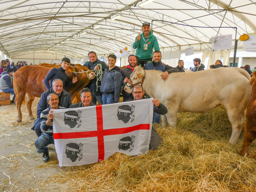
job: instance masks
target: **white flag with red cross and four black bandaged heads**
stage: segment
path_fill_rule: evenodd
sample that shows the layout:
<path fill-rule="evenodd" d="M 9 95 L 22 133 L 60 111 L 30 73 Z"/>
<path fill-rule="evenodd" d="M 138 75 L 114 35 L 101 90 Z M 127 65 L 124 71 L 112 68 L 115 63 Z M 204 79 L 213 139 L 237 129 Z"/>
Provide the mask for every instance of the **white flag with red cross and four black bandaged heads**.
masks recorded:
<path fill-rule="evenodd" d="M 59 166 L 91 164 L 115 152 L 148 152 L 152 98 L 125 103 L 53 110 L 53 136 Z"/>

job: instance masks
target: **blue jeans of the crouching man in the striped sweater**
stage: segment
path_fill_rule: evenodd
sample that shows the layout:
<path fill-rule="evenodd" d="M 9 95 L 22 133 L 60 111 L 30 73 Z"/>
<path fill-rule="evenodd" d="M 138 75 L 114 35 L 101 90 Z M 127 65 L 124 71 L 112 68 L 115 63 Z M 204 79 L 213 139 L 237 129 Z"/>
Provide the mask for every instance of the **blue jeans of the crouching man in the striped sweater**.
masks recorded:
<path fill-rule="evenodd" d="M 42 134 L 40 137 L 37 138 L 35 141 L 36 148 L 41 152 L 47 152 L 48 151 L 48 145 L 54 144 L 53 136 L 48 135 L 47 133 Z"/>

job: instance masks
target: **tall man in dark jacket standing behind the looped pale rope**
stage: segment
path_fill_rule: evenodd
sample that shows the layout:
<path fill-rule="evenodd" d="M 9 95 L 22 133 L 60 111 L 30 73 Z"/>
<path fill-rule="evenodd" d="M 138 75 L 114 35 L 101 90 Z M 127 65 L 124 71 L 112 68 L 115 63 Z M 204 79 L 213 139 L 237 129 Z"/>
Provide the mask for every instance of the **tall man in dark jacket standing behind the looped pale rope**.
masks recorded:
<path fill-rule="evenodd" d="M 96 65 L 100 64 L 101 65 L 101 69 L 102 71 L 104 71 L 105 69 L 108 68 L 108 66 L 106 65 L 106 63 L 104 61 L 100 61 L 97 58 L 97 55 L 94 51 L 90 51 L 88 53 L 88 58 L 90 61 L 87 61 L 84 66 L 88 67 L 90 70 L 94 70 L 94 67 L 96 67 Z M 102 105 L 102 92 L 100 92 L 100 86 L 101 86 L 101 82 L 98 81 L 98 90 L 97 90 L 97 78 L 92 79 L 89 84 L 87 85 L 87 87 L 91 90 L 92 93 L 92 103 L 96 104 L 97 100 L 99 105 Z"/>

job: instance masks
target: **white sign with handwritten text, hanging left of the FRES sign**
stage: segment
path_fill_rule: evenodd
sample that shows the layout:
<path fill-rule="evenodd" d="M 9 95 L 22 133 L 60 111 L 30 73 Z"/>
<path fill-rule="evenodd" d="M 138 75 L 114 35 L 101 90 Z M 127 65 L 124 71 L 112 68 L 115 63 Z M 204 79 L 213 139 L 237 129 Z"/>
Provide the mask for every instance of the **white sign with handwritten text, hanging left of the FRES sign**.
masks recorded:
<path fill-rule="evenodd" d="M 212 43 L 212 50 L 215 49 L 231 49 L 232 35 L 214 36 L 216 41 Z"/>

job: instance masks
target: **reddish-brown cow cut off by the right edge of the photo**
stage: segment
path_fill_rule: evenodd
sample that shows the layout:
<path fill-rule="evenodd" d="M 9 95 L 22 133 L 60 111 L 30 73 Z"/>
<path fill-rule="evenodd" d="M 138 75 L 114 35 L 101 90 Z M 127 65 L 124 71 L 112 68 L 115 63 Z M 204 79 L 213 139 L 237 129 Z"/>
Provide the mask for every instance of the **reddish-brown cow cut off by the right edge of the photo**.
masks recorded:
<path fill-rule="evenodd" d="M 246 123 L 241 156 L 248 156 L 249 146 L 256 138 L 256 71 L 254 71 L 252 75 L 253 77 L 250 80 L 252 86 L 251 98 L 246 109 Z"/>

